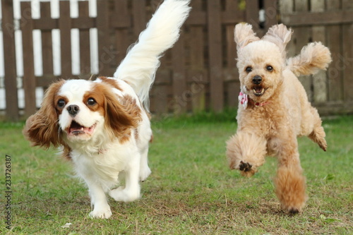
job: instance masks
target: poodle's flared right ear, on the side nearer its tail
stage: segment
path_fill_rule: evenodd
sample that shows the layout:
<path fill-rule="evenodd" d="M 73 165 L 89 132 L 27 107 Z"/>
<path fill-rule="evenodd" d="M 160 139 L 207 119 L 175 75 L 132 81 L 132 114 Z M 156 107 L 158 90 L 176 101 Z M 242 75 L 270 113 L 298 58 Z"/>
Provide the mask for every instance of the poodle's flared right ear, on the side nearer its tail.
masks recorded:
<path fill-rule="evenodd" d="M 293 30 L 287 29 L 287 27 L 283 24 L 273 25 L 268 29 L 268 32 L 263 36 L 262 40 L 266 40 L 268 42 L 273 42 L 280 48 L 282 56 L 285 58 L 285 47 L 292 37 Z"/>

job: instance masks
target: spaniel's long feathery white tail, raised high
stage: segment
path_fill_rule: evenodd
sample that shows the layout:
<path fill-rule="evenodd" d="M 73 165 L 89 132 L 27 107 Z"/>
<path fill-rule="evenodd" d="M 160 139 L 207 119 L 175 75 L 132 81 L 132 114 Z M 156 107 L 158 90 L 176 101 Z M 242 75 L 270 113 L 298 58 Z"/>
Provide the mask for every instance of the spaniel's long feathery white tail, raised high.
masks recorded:
<path fill-rule="evenodd" d="M 160 57 L 177 42 L 179 29 L 191 10 L 189 2 L 164 0 L 114 73 L 114 78 L 131 85 L 146 109 L 148 92 L 155 80 L 155 71 L 160 66 Z"/>

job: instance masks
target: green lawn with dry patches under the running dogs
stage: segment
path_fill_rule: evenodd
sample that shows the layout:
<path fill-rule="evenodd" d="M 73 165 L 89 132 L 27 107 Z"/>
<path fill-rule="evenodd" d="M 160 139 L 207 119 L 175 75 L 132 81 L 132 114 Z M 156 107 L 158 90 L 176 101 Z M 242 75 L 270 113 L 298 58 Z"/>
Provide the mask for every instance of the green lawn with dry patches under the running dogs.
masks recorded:
<path fill-rule="evenodd" d="M 12 229 L 4 234 L 352 234 L 353 116 L 325 119 L 328 152 L 299 138 L 309 201 L 299 215 L 280 210 L 273 193 L 276 159 L 252 178 L 227 167 L 225 141 L 234 112 L 155 119 L 152 174 L 133 203 L 110 200 L 110 219 L 90 219 L 90 199 L 70 162 L 30 147 L 23 123 L 0 123 L 0 152 L 11 155 Z M 222 120 L 222 121 L 217 121 Z M 4 164 L 2 164 L 4 166 Z M 4 167 L 0 182 L 5 187 Z M 1 204 L 4 192 L 1 191 Z M 69 228 L 64 224 L 71 223 Z"/>

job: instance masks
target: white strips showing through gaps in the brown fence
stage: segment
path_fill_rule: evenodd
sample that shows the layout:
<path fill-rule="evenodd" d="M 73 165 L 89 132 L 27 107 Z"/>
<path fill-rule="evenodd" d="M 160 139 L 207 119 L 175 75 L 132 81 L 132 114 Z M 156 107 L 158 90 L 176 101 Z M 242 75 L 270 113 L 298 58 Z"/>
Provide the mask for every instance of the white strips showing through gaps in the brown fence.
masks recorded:
<path fill-rule="evenodd" d="M 24 0 L 13 0 L 13 8 L 14 8 L 14 18 L 15 23 L 14 25 L 19 25 L 20 20 L 20 1 Z M 52 11 L 52 18 L 59 18 L 59 0 L 31 0 L 32 6 L 32 18 L 40 18 L 40 1 L 50 1 L 51 2 L 51 11 Z M 75 18 L 78 17 L 78 1 L 82 0 L 70 0 L 71 8 L 70 14 L 71 17 Z M 97 16 L 97 9 L 96 9 L 96 1 L 97 0 L 83 0 L 90 2 L 90 16 L 95 17 Z M 0 18 L 1 16 L 1 4 L 0 4 Z M 22 109 L 25 106 L 24 101 L 24 92 L 22 88 L 22 77 L 23 77 L 23 51 L 22 51 L 22 38 L 21 32 L 16 27 L 17 30 L 15 32 L 15 42 L 16 42 L 16 71 L 17 71 L 17 84 L 18 84 L 18 107 Z M 53 37 L 53 66 L 54 66 L 54 75 L 61 74 L 61 67 L 60 67 L 60 35 L 59 30 L 52 30 L 52 37 Z M 91 72 L 97 73 L 98 71 L 98 61 L 97 61 L 97 30 L 91 30 L 91 39 L 92 43 L 90 43 L 90 54 L 91 54 Z M 79 35 L 78 30 L 71 30 L 71 52 L 72 52 L 72 70 L 73 74 L 80 74 L 80 62 L 79 62 Z M 35 62 L 35 75 L 42 76 L 42 47 L 41 47 L 41 35 L 40 31 L 37 30 L 33 32 L 33 51 L 34 51 L 34 62 Z M 4 110 L 6 108 L 6 100 L 5 100 L 5 88 L 4 88 L 4 43 L 2 37 L 2 30 L 0 28 L 0 110 Z M 37 107 L 40 107 L 40 103 L 42 102 L 43 97 L 43 90 L 42 88 L 37 88 L 36 90 L 36 100 L 37 100 Z"/>

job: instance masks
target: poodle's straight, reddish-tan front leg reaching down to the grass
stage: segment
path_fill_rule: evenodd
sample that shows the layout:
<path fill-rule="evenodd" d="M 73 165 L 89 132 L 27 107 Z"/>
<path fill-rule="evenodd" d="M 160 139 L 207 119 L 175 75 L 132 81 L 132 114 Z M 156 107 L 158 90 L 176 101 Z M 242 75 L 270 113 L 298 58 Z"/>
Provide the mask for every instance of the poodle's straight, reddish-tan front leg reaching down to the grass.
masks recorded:
<path fill-rule="evenodd" d="M 286 138 L 279 143 L 275 193 L 284 210 L 299 212 L 306 202 L 305 177 L 300 166 L 297 138 Z"/>

